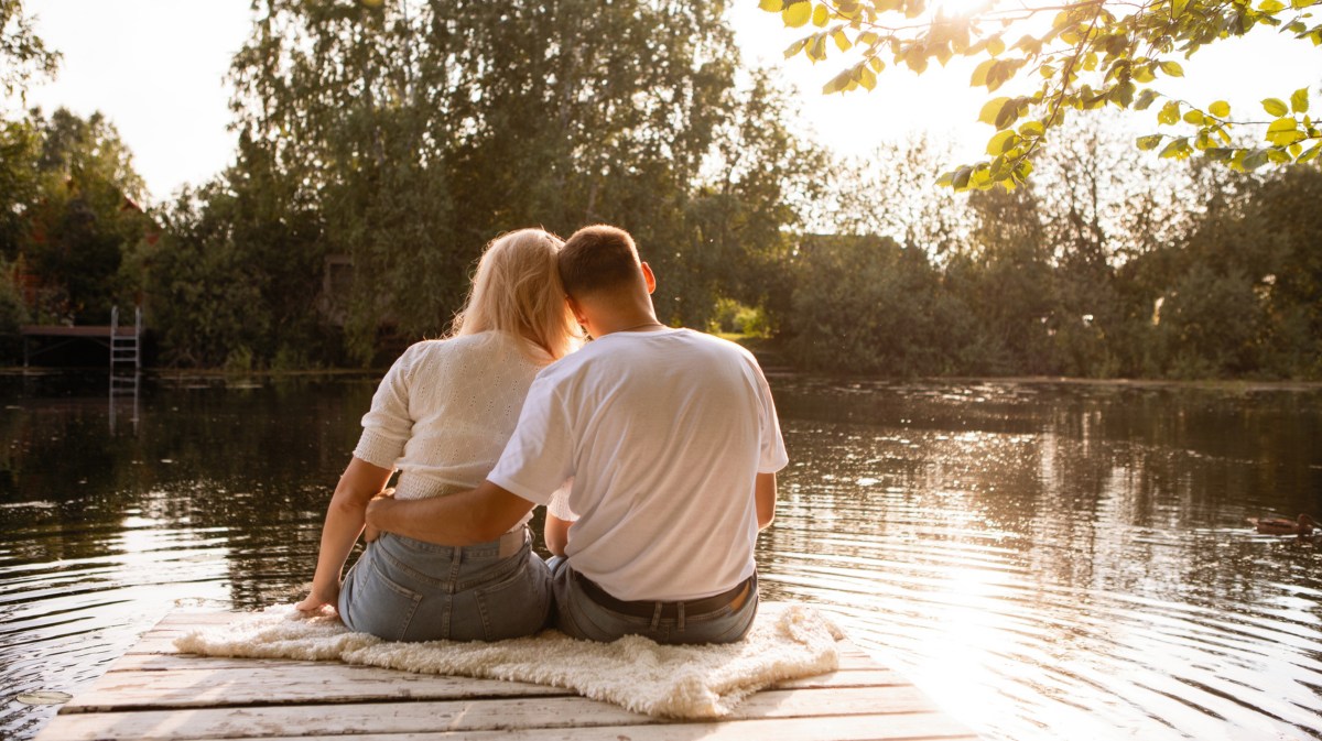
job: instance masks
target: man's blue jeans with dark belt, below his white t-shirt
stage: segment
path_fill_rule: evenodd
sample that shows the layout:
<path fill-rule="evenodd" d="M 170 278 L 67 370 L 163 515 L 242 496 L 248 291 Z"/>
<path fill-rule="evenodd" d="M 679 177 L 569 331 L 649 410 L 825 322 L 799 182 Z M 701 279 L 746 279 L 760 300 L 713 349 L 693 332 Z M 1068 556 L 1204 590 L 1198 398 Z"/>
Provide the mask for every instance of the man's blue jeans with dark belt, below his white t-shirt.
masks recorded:
<path fill-rule="evenodd" d="M 752 627 L 758 616 L 758 579 L 738 609 L 730 605 L 711 612 L 677 617 L 637 617 L 615 612 L 583 592 L 564 557 L 553 557 L 551 589 L 555 593 L 555 627 L 574 638 L 609 642 L 624 635 L 642 635 L 657 643 L 734 643 Z"/>

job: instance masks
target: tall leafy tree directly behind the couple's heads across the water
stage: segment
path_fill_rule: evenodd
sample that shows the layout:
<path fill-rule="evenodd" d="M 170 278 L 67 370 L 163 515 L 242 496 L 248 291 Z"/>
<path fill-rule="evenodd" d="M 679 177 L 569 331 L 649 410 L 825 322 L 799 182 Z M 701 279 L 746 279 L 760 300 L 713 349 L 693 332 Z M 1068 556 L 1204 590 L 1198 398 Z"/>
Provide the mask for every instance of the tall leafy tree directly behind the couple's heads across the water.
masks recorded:
<path fill-rule="evenodd" d="M 710 313 L 714 255 L 754 260 L 783 244 L 792 214 L 777 211 L 772 181 L 795 176 L 768 168 L 764 157 L 787 155 L 755 139 L 742 139 L 739 203 L 720 205 L 732 214 L 723 226 L 738 229 L 719 248 L 703 229 L 714 205 L 705 162 L 742 136 L 730 120 L 773 136 L 781 111 L 735 94 L 738 50 L 719 8 L 260 0 L 255 11 L 231 70 L 239 160 L 217 193 L 320 217 L 320 239 L 299 242 L 309 252 L 297 259 L 352 264 L 336 299 L 360 362 L 390 338 L 443 332 L 483 243 L 510 229 L 629 229 L 661 275 L 658 309 L 685 324 Z M 279 197 L 263 201 L 249 181 Z M 231 213 L 247 219 L 246 207 Z M 253 239 L 270 246 L 260 264 L 291 254 Z"/>

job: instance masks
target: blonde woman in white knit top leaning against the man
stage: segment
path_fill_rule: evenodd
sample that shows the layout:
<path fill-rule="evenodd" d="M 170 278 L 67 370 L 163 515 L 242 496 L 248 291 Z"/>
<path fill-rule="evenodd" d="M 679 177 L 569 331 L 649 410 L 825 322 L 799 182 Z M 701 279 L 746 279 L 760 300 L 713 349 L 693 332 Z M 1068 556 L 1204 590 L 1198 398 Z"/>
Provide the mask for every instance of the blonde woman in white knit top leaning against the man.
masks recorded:
<path fill-rule="evenodd" d="M 574 349 L 579 329 L 555 267 L 561 244 L 535 229 L 494 239 L 449 337 L 395 361 L 330 499 L 312 592 L 299 610 L 337 606 L 352 630 L 390 641 L 497 641 L 542 627 L 550 572 L 531 552 L 526 520 L 465 547 L 382 534 L 342 586 L 340 573 L 368 502 L 394 469 L 401 499 L 476 487 L 514 432 L 533 376 Z"/>

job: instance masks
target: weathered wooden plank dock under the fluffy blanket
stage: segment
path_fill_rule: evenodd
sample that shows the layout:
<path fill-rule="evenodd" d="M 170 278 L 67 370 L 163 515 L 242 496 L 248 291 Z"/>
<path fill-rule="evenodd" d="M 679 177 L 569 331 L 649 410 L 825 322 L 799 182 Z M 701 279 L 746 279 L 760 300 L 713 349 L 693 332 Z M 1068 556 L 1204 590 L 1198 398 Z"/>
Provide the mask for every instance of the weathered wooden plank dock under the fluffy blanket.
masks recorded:
<path fill-rule="evenodd" d="M 538 684 L 336 662 L 201 658 L 175 650 L 175 638 L 231 617 L 171 613 L 65 704 L 37 741 L 977 738 L 902 676 L 851 646 L 843 647 L 838 671 L 763 689 L 728 719 L 685 723 Z"/>

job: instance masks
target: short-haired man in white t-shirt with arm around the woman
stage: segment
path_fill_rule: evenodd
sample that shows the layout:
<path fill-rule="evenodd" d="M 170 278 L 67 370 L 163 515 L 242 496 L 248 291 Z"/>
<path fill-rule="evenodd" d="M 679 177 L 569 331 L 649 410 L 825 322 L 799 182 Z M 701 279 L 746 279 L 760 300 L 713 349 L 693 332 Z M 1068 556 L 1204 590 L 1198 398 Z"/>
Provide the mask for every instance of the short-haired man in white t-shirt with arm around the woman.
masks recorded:
<path fill-rule="evenodd" d="M 375 501 L 368 524 L 483 543 L 572 479 L 555 512 L 574 520 L 553 576 L 557 627 L 594 641 L 739 641 L 758 609 L 754 546 L 787 462 L 761 370 L 731 342 L 657 321 L 656 277 L 623 230 L 575 232 L 559 273 L 594 341 L 538 374 L 481 486 Z"/>

